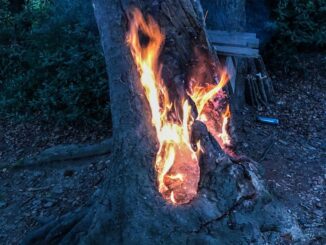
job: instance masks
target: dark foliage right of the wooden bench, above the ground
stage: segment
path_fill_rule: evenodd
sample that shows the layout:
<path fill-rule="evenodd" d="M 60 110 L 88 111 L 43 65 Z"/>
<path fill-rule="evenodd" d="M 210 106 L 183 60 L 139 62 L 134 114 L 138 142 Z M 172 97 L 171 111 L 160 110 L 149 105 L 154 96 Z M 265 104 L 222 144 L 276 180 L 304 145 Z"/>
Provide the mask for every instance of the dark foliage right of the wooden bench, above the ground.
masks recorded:
<path fill-rule="evenodd" d="M 274 5 L 274 38 L 264 56 L 285 72 L 302 72 L 302 53 L 324 53 L 326 48 L 326 0 L 278 0 Z"/>

